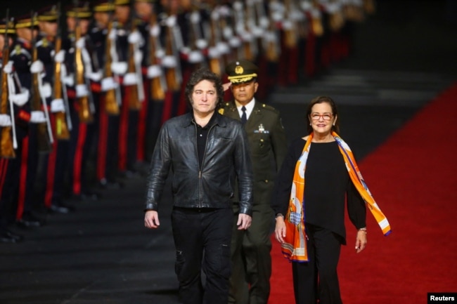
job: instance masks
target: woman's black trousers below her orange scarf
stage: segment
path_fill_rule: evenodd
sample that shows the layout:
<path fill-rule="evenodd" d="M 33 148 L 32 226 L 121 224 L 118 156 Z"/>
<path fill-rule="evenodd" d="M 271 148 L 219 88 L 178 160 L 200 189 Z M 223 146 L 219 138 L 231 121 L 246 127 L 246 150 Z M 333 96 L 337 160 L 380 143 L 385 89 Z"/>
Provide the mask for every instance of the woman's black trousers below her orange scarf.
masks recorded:
<path fill-rule="evenodd" d="M 307 227 L 308 263 L 292 263 L 296 304 L 342 304 L 337 265 L 341 237 L 314 225 Z"/>

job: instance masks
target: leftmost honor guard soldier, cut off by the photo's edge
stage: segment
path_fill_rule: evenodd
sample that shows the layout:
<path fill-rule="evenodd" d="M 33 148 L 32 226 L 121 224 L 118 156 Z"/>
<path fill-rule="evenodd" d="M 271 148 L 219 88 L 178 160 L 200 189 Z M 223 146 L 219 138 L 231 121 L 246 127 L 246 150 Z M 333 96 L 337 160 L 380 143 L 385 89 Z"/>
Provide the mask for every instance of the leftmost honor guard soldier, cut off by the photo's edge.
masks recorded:
<path fill-rule="evenodd" d="M 13 200 L 14 194 L 18 190 L 18 172 L 20 166 L 20 154 L 17 151 L 16 138 L 16 117 L 15 107 L 11 101 L 11 85 L 13 84 L 13 64 L 9 61 L 10 45 L 15 35 L 14 23 L 8 20 L 0 21 L 0 242 L 18 243 L 23 237 L 9 229 L 13 223 L 12 210 L 15 210 L 16 201 Z M 28 97 L 22 100 L 27 102 Z M 17 103 L 17 101 L 15 101 Z"/>

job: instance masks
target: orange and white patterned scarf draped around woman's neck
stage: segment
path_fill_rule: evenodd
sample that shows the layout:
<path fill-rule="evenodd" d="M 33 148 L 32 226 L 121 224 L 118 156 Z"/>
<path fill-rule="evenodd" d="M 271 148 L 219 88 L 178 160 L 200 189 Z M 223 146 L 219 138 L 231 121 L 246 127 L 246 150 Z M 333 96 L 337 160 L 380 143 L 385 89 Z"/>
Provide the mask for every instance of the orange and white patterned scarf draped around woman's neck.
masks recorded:
<path fill-rule="evenodd" d="M 337 135 L 337 133 L 332 132 L 332 136 L 335 138 L 338 147 L 340 148 L 340 152 L 345 159 L 346 168 L 352 183 L 354 183 L 357 191 L 363 198 L 363 201 L 365 201 L 368 209 L 370 209 L 371 213 L 375 217 L 375 220 L 378 222 L 382 233 L 384 233 L 384 235 L 390 234 L 390 224 L 378 204 L 376 204 L 375 199 L 373 199 L 370 190 L 368 190 L 351 149 L 347 143 L 345 143 L 345 141 Z M 283 256 L 288 258 L 291 262 L 309 261 L 306 233 L 304 230 L 303 199 L 304 170 L 306 169 L 312 139 L 313 133 L 308 136 L 307 143 L 303 148 L 302 156 L 298 159 L 297 164 L 295 165 L 292 190 L 290 190 L 288 213 L 285 216 L 286 235 L 284 243 L 281 245 L 281 251 L 283 252 Z"/>

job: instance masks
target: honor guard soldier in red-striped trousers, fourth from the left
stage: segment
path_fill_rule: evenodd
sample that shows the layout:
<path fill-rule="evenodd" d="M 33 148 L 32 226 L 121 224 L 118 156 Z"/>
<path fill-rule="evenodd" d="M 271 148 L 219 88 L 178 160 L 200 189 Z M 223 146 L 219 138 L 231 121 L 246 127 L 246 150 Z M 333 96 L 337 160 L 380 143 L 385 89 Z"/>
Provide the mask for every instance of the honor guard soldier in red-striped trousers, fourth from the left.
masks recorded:
<path fill-rule="evenodd" d="M 91 188 L 89 165 L 94 164 L 101 71 L 89 38 L 92 13 L 87 4 L 66 11 L 68 34 L 64 43 L 67 95 L 70 100 L 69 180 L 71 194 L 77 199 L 98 199 Z M 98 84 L 98 85 L 97 85 Z"/>

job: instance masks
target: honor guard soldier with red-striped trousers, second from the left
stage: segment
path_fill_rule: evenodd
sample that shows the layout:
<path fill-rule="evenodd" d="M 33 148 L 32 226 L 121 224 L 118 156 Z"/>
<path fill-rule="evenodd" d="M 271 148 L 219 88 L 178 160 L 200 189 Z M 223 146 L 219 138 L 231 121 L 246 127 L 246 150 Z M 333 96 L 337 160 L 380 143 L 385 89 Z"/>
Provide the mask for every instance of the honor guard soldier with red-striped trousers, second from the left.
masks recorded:
<path fill-rule="evenodd" d="M 34 201 L 34 185 L 39 153 L 51 152 L 51 126 L 46 99 L 41 98 L 44 95 L 41 91 L 44 65 L 37 59 L 37 49 L 34 46 L 38 32 L 36 14 L 17 20 L 15 30 L 16 39 L 11 47 L 10 60 L 13 61 L 20 85 L 30 91 L 31 97 L 18 111 L 20 176 L 18 192 L 13 196 L 13 199 L 18 200 L 15 218 L 22 227 L 40 227 L 44 221 L 32 213 L 34 208 L 41 205 L 41 202 Z"/>

